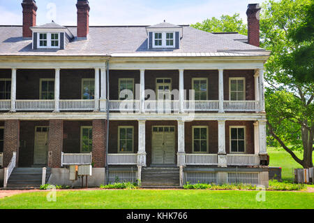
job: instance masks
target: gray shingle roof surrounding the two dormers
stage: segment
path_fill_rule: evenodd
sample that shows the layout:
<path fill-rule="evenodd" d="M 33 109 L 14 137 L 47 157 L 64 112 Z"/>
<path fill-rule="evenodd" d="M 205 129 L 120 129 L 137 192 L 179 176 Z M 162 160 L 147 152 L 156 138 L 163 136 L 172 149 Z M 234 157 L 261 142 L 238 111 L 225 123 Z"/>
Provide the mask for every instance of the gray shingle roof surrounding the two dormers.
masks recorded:
<path fill-rule="evenodd" d="M 90 27 L 87 40 L 74 40 L 65 50 L 32 50 L 31 40 L 22 38 L 22 26 L 0 26 L 0 55 L 112 55 L 144 54 L 158 55 L 162 52 L 173 54 L 211 53 L 236 50 L 237 52 L 266 52 L 254 45 L 234 41 L 224 35 L 211 34 L 192 27 L 182 27 L 180 48 L 176 50 L 148 50 L 146 26 Z M 76 36 L 76 27 L 68 27 Z"/>

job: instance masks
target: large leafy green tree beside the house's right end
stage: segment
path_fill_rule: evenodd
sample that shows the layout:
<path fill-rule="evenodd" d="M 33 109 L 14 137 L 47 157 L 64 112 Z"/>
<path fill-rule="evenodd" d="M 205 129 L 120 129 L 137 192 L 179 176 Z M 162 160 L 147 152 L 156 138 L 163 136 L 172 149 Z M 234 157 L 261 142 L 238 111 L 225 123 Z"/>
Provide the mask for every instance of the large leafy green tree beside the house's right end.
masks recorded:
<path fill-rule="evenodd" d="M 260 20 L 261 46 L 271 50 L 265 64 L 269 134 L 304 168 L 313 166 L 313 64 L 306 65 L 308 60 L 313 63 L 313 51 L 308 51 L 313 33 L 310 38 L 299 36 L 305 29 L 301 27 L 307 27 L 310 7 L 311 0 L 269 0 L 262 4 Z M 302 159 L 295 150 L 303 150 Z"/>

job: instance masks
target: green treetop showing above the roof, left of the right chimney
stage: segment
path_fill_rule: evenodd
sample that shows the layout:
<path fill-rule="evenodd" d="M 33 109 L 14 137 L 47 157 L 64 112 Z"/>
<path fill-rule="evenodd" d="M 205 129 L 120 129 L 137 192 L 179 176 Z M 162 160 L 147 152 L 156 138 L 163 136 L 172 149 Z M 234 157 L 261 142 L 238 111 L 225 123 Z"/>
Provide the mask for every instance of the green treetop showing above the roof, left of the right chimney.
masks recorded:
<path fill-rule="evenodd" d="M 221 15 L 220 20 L 216 17 L 204 20 L 202 23 L 197 22 L 191 24 L 191 27 L 208 32 L 230 32 L 237 31 L 239 34 L 247 35 L 248 29 L 243 20 L 239 17 L 240 14 Z"/>

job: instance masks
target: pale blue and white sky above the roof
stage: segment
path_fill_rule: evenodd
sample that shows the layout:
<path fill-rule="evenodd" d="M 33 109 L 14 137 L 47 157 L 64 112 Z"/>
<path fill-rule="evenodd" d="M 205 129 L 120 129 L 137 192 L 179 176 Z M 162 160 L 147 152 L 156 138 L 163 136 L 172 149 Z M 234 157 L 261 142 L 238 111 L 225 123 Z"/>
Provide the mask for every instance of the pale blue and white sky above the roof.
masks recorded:
<path fill-rule="evenodd" d="M 36 0 L 37 24 L 76 25 L 76 0 Z M 248 3 L 264 0 L 89 0 L 90 25 L 195 24 L 209 17 L 239 13 L 246 22 Z M 22 0 L 0 0 L 0 24 L 22 24 Z"/>

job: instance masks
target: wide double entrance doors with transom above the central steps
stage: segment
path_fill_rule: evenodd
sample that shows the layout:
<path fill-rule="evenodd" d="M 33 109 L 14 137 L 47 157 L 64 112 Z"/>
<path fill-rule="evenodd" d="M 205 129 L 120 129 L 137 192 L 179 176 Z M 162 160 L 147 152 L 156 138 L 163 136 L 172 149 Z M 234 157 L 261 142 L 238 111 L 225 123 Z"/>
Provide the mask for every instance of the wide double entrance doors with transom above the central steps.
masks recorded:
<path fill-rule="evenodd" d="M 174 126 L 155 126 L 152 131 L 152 164 L 174 164 Z"/>

